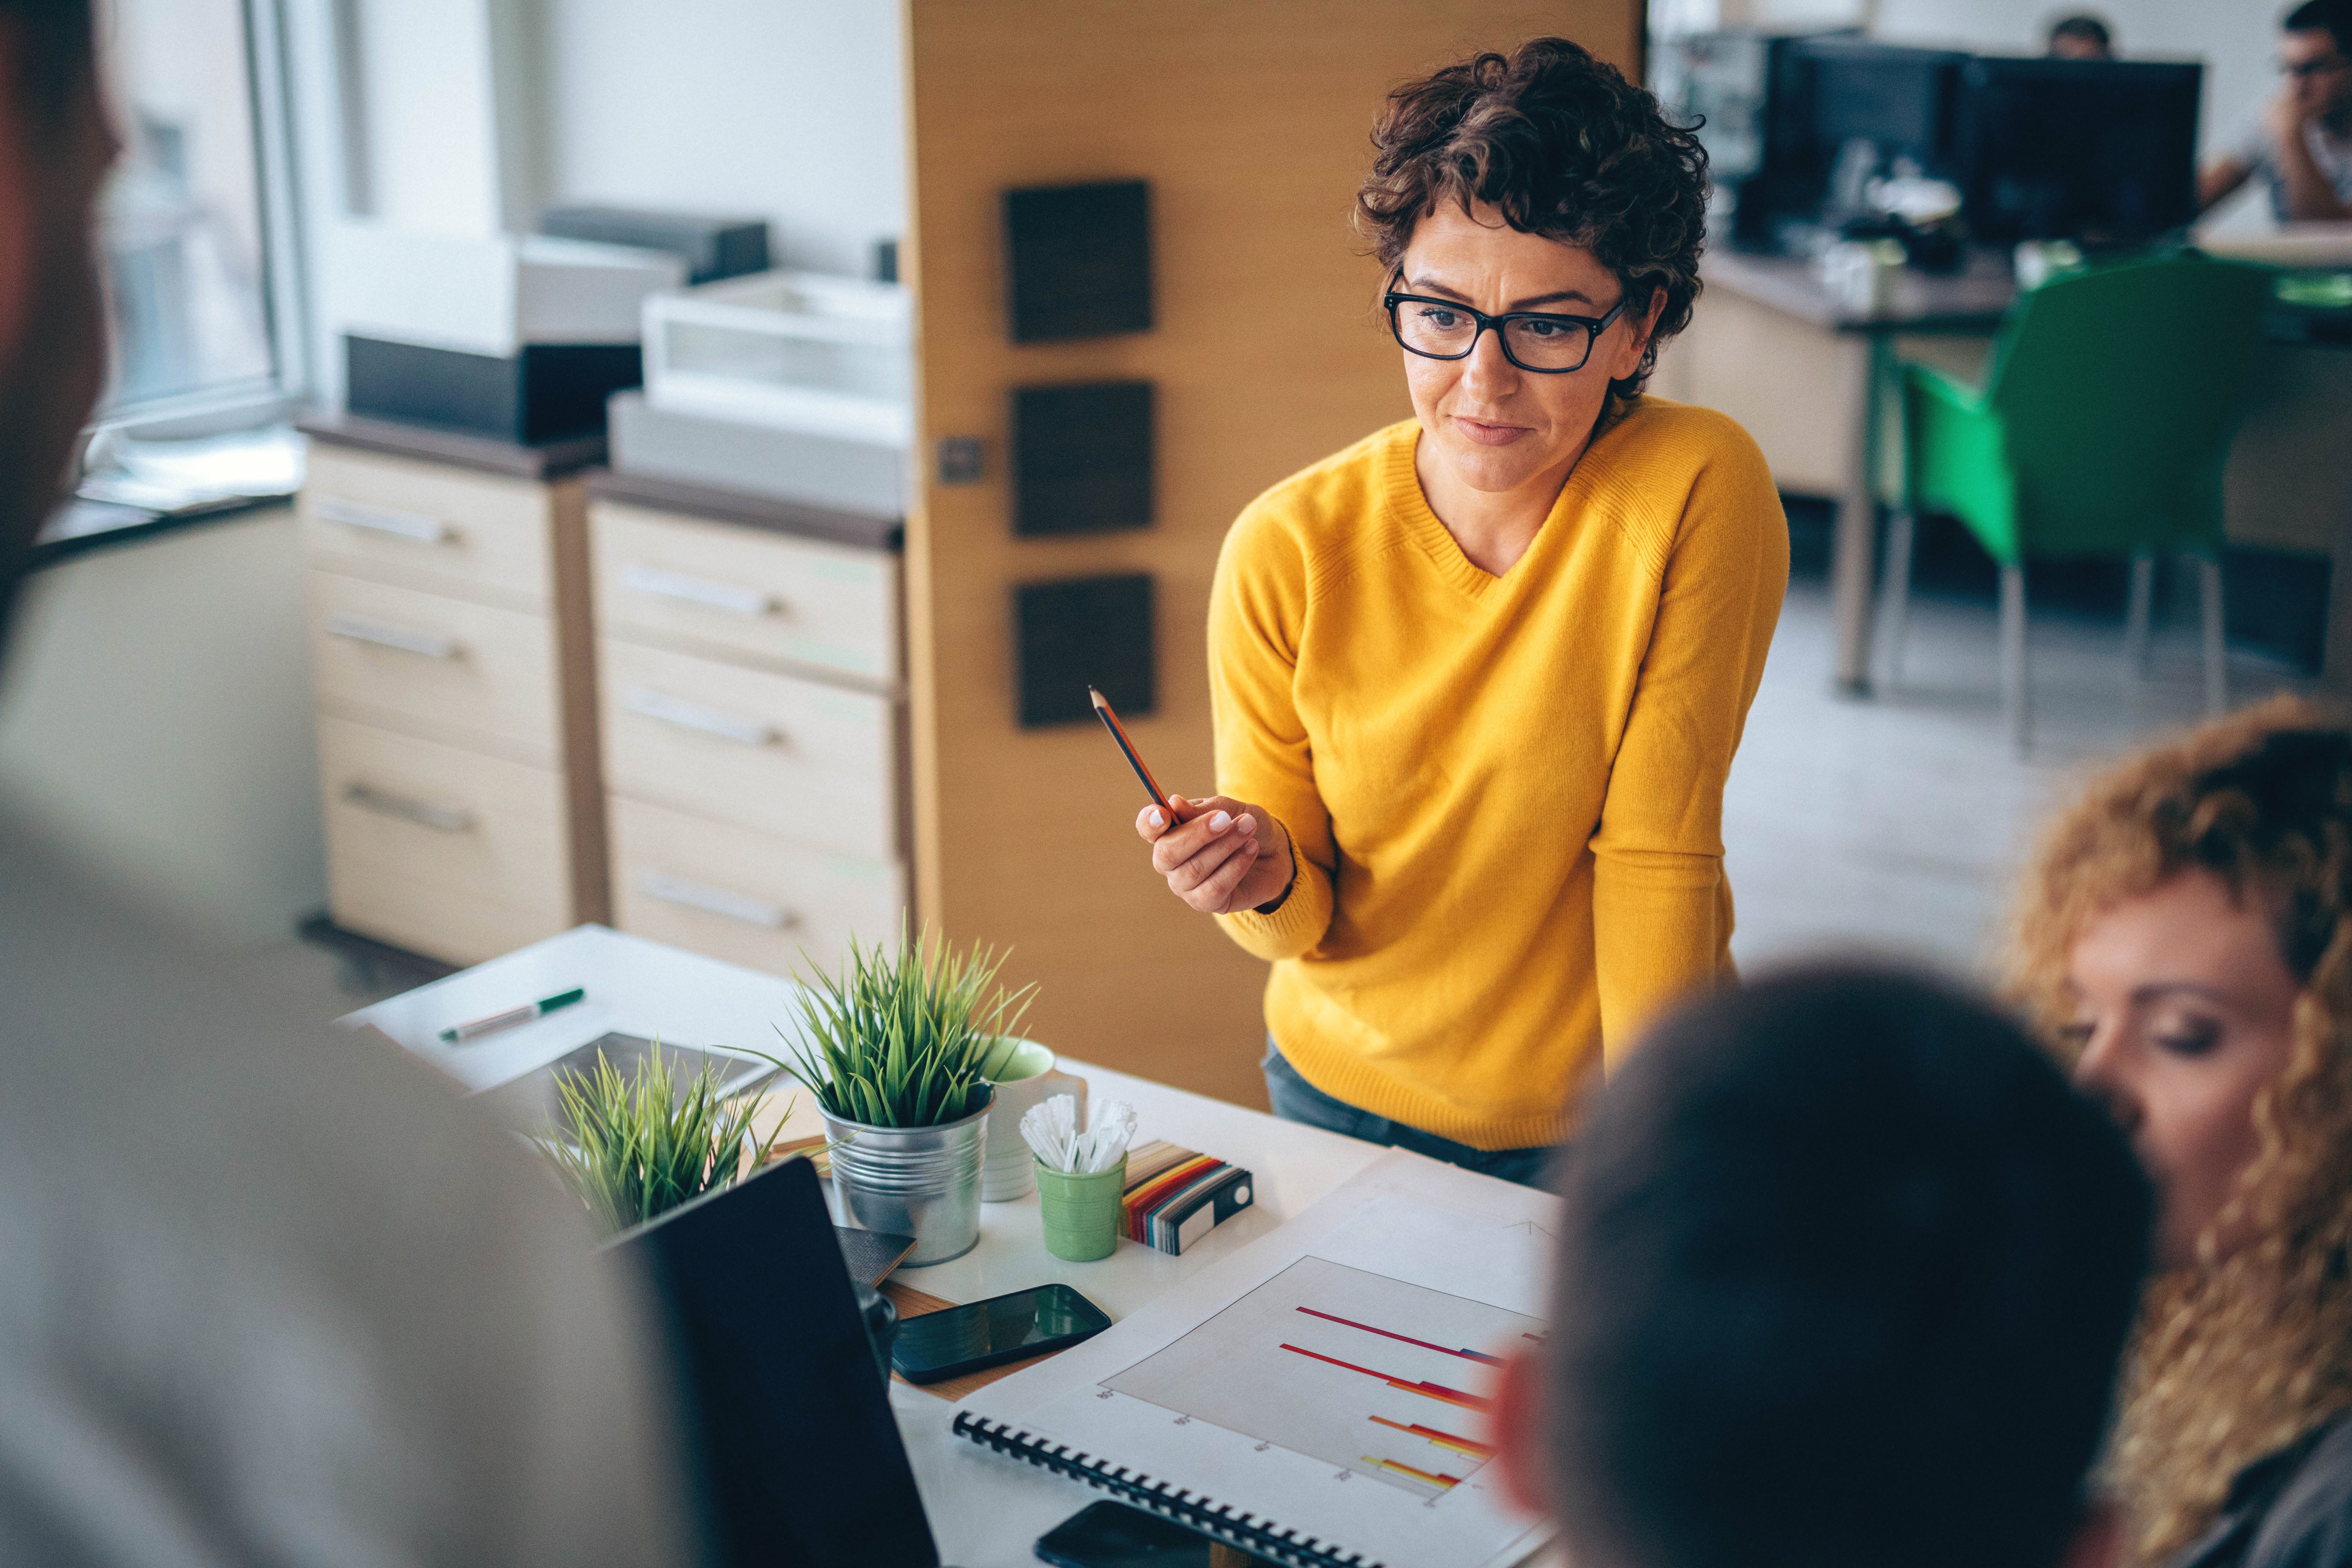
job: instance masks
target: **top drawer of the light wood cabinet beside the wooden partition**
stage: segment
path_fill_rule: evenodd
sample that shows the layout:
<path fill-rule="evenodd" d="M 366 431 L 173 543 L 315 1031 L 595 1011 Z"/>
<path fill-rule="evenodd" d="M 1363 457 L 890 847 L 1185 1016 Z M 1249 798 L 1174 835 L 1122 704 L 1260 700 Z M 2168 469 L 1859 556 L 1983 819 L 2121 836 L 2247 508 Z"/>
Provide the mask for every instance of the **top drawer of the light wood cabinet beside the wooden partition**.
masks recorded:
<path fill-rule="evenodd" d="M 588 508 L 597 628 L 717 658 L 898 679 L 898 562 L 619 501 Z"/>

